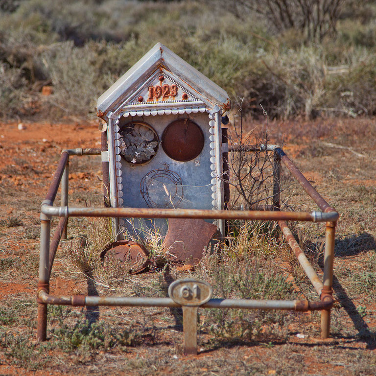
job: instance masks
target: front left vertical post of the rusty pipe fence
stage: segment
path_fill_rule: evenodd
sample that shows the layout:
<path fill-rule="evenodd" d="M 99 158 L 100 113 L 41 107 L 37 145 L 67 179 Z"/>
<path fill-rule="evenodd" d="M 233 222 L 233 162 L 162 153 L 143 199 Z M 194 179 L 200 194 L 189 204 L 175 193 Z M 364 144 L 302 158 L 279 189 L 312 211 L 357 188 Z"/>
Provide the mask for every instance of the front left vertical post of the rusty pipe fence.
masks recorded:
<path fill-rule="evenodd" d="M 51 228 L 51 219 L 45 214 L 41 214 L 41 246 L 39 254 L 39 282 L 38 291 L 45 290 L 49 292 L 49 235 Z M 38 326 L 37 341 L 46 341 L 47 338 L 47 304 L 38 302 Z"/>

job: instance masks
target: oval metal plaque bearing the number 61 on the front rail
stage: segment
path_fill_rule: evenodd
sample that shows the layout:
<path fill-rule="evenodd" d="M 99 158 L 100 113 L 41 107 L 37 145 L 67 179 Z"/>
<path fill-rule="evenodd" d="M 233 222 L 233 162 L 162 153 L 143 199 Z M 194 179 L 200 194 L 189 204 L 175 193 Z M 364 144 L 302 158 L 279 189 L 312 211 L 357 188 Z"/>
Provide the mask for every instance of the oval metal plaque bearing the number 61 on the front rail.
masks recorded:
<path fill-rule="evenodd" d="M 180 305 L 203 305 L 211 299 L 211 285 L 204 281 L 186 278 L 170 284 L 168 296 Z"/>

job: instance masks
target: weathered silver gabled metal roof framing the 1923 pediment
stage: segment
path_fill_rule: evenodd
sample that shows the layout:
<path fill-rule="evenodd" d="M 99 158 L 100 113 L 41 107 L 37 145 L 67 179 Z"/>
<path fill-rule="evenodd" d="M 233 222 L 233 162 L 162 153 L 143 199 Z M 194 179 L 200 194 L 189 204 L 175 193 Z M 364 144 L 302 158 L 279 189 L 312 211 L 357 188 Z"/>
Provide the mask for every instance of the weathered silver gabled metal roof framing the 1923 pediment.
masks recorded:
<path fill-rule="evenodd" d="M 151 82 L 152 78 L 158 74 L 173 77 L 182 89 L 186 89 L 187 93 L 193 94 L 195 103 L 201 102 L 209 109 L 218 104 L 222 112 L 230 109 L 229 95 L 222 88 L 170 49 L 161 43 L 157 43 L 98 98 L 98 116 L 107 118 L 109 112 L 118 115 L 121 111 L 129 111 L 132 106 L 135 110 L 136 107 L 140 110 L 141 108 L 155 108 L 155 102 L 143 102 L 135 105 L 131 99 L 134 100 L 135 95 L 141 88 L 145 88 L 147 82 Z M 163 103 L 166 108 L 176 107 L 177 105 L 189 107 L 190 105 L 189 101 L 160 101 L 157 107 L 160 107 Z M 139 107 L 140 105 L 141 107 Z"/>

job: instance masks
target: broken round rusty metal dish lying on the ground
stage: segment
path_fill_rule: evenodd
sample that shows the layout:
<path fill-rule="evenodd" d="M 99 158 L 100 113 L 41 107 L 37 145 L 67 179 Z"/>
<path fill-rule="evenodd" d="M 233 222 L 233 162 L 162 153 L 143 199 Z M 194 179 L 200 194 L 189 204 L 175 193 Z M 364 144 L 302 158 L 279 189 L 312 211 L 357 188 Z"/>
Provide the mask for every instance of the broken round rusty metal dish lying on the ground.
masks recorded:
<path fill-rule="evenodd" d="M 109 255 L 135 265 L 135 269 L 131 270 L 132 274 L 142 273 L 150 264 L 149 251 L 140 243 L 131 240 L 119 240 L 109 244 L 101 252 L 100 257 L 103 259 Z"/>

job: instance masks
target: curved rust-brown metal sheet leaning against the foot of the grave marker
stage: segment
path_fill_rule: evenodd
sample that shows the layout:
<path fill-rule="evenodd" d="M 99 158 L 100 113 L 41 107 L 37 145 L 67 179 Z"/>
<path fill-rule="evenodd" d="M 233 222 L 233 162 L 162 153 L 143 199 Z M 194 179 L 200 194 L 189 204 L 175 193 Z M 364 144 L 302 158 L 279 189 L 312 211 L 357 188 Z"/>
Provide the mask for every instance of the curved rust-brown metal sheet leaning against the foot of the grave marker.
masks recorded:
<path fill-rule="evenodd" d="M 217 226 L 203 219 L 170 218 L 162 248 L 173 255 L 172 259 L 197 264 L 216 231 Z"/>

